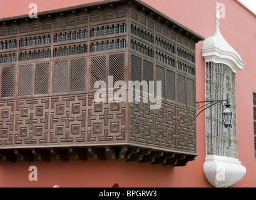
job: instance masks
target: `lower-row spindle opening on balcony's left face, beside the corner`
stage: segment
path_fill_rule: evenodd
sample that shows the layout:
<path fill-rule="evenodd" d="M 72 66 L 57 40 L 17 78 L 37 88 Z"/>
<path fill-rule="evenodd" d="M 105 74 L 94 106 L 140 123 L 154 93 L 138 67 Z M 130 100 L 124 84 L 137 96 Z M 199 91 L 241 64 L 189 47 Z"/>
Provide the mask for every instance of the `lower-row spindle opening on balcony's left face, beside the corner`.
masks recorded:
<path fill-rule="evenodd" d="M 111 41 L 101 41 L 101 42 L 91 42 L 90 53 L 100 52 L 100 51 L 111 51 L 116 49 L 125 49 L 126 39 L 116 39 Z"/>

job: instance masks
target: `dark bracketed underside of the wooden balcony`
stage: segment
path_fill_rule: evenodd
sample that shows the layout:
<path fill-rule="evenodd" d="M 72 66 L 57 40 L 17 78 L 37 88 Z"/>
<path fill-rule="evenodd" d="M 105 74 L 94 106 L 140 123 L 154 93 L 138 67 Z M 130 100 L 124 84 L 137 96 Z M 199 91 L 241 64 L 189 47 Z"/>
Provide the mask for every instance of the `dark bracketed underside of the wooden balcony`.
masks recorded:
<path fill-rule="evenodd" d="M 197 155 L 137 146 L 90 146 L 68 148 L 0 149 L 0 162 L 124 160 L 168 166 L 187 166 Z"/>

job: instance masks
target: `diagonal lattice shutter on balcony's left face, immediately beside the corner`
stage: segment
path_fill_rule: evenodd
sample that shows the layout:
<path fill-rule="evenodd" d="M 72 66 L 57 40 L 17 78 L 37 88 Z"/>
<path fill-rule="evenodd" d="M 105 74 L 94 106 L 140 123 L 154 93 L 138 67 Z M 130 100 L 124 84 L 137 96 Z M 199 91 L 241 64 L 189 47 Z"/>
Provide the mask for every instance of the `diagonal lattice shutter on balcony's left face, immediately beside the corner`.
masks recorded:
<path fill-rule="evenodd" d="M 119 81 L 125 81 L 125 54 L 112 54 L 109 56 L 108 77 L 109 88 L 122 88 Z"/>

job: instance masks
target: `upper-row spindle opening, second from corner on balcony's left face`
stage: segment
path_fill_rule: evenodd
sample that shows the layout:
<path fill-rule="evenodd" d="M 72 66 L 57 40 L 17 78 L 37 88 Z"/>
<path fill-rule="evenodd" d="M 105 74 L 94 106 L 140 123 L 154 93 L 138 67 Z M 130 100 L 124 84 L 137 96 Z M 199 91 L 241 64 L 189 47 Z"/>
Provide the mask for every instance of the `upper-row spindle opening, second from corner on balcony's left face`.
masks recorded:
<path fill-rule="evenodd" d="M 54 43 L 76 41 L 88 38 L 88 31 L 86 29 L 78 29 L 65 32 L 57 32 L 54 34 Z"/>

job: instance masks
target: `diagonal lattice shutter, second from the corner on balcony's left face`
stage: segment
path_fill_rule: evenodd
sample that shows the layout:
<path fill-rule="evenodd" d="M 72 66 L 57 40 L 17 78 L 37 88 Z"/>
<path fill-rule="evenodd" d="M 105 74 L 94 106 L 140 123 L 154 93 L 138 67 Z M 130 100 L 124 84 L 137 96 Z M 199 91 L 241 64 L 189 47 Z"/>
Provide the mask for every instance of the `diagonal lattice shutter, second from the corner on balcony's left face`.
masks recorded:
<path fill-rule="evenodd" d="M 106 83 L 106 56 L 98 56 L 91 58 L 91 90 L 106 89 L 107 85 L 101 85 L 100 88 L 95 88 L 97 81 Z"/>

